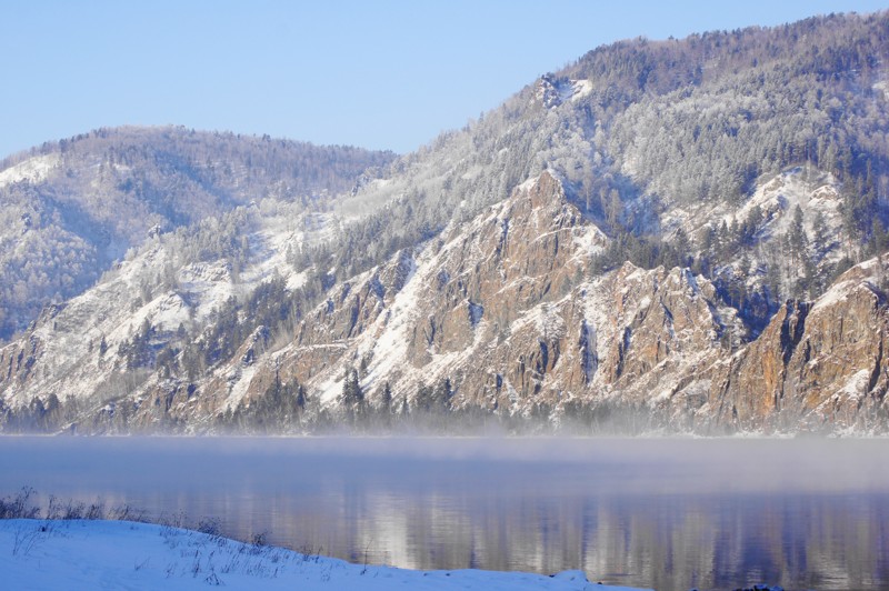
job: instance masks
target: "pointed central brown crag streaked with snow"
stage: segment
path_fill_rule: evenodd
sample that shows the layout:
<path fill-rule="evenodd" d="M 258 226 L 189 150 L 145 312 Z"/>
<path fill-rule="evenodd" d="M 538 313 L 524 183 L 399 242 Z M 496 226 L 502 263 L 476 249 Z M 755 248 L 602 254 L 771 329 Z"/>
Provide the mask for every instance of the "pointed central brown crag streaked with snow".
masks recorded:
<path fill-rule="evenodd" d="M 685 428 L 707 401 L 698 372 L 746 329 L 688 270 L 627 263 L 591 279 L 607 241 L 545 173 L 441 241 L 334 289 L 276 363 L 328 402 L 362 363 L 371 399 L 389 383 L 412 405 L 422 384 L 447 380 L 455 408 L 561 420 L 607 402 Z"/>

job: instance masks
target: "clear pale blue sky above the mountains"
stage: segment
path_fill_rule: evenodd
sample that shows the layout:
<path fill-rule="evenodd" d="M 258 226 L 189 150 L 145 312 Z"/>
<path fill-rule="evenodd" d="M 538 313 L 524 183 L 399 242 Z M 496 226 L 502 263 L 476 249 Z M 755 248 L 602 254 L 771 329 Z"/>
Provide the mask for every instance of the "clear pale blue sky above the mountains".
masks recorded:
<path fill-rule="evenodd" d="M 619 39 L 872 0 L 0 0 L 0 158 L 103 126 L 411 151 Z"/>

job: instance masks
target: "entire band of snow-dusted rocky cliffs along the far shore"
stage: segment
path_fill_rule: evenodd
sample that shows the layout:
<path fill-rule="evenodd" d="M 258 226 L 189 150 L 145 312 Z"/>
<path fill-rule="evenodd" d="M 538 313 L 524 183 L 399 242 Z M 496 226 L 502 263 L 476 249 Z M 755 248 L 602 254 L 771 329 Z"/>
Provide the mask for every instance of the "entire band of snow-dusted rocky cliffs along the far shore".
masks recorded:
<path fill-rule="evenodd" d="M 0 349 L 0 391 L 9 407 L 71 397 L 80 402 L 69 422 L 87 432 L 216 432 L 221 418 L 293 383 L 304 387 L 303 422 L 336 422 L 347 375 L 372 409 L 422 408 L 443 388 L 455 411 L 586 430 L 889 430 L 882 261 L 851 269 L 815 302 L 788 301 L 751 341 L 737 311 L 688 269 L 593 273 L 608 242 L 545 172 L 333 286 L 289 341 L 259 327 L 194 381 L 158 372 L 127 382 L 99 344 L 73 354 L 78 319 L 107 315 L 74 300 Z M 172 330 L 188 312 L 168 300 L 152 305 L 166 307 Z M 124 342 L 123 329 L 106 328 L 109 342 Z"/>

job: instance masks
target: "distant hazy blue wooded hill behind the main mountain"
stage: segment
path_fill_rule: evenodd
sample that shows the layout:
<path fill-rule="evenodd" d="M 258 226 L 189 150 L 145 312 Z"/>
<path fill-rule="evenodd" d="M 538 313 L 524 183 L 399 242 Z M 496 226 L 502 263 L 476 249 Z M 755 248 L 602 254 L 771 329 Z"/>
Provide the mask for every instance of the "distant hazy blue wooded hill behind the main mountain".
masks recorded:
<path fill-rule="evenodd" d="M 392 154 L 183 128 L 101 129 L 0 163 L 0 339 L 150 233 L 263 198 L 323 208 Z"/>

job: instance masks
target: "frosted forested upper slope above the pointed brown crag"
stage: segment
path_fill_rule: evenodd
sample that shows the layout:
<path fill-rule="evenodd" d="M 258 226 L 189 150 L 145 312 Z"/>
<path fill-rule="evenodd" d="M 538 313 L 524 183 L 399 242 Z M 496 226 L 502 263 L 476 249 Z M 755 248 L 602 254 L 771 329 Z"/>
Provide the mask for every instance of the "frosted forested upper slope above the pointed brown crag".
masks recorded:
<path fill-rule="evenodd" d="M 716 277 L 749 261 L 743 287 L 721 284 L 768 301 L 749 311 L 762 317 L 787 297 L 817 297 L 887 241 L 887 59 L 885 13 L 598 48 L 402 159 L 392 183 L 364 189 L 396 204 L 316 258 L 368 268 L 550 169 L 616 238 L 603 268 L 629 258 Z M 816 184 L 828 174 L 838 201 L 820 219 L 803 211 L 806 236 L 789 244 L 770 231 L 776 212 L 745 206 L 797 167 Z"/>

